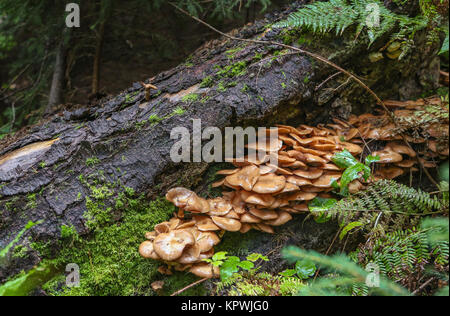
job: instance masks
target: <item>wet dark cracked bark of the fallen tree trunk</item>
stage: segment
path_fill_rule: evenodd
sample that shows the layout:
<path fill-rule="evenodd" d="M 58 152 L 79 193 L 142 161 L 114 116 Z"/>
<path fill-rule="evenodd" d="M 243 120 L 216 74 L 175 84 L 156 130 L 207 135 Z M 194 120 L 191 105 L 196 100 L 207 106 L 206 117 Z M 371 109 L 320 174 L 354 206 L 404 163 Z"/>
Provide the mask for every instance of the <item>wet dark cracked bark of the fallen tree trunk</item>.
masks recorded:
<path fill-rule="evenodd" d="M 265 26 L 288 12 L 246 26 L 237 36 L 280 41 L 282 31 L 265 32 Z M 331 57 L 361 76 L 380 97 L 402 99 L 419 93 L 418 88 L 424 84 L 434 84 L 434 79 L 424 81 L 424 74 L 436 71 L 435 59 L 428 57 L 433 56 L 431 50 L 435 48 L 425 42 L 425 38 L 419 38 L 417 50 L 402 61 L 385 57 L 375 63 L 369 61 L 368 55 L 385 45 L 386 39 L 375 43 L 371 51 L 367 43 L 355 44 L 353 34 L 348 39 L 315 37 L 303 47 Z M 232 55 L 227 53 L 238 46 L 242 49 Z M 174 164 L 169 156 L 176 141 L 170 139 L 171 129 L 185 126 L 191 130 L 191 119 L 201 119 L 203 127 L 219 128 L 315 124 L 328 122 L 333 115 L 345 118 L 351 112 L 376 107 L 359 86 L 351 82 L 343 85 L 343 75 L 321 85 L 336 71 L 309 57 L 295 54 L 272 60 L 279 50 L 228 39 L 212 41 L 199 48 L 189 63 L 152 78 L 159 90 L 152 90 L 149 101 L 145 100 L 143 87 L 135 83 L 97 107 L 65 111 L 31 128 L 28 135 L 15 142 L 0 144 L 0 248 L 29 220 L 44 220 L 30 232 L 32 240 L 58 239 L 62 225 L 73 225 L 81 234 L 88 233 L 83 214 L 87 210 L 86 197 L 92 193 L 80 181 L 80 175 L 86 179 L 101 172 L 110 183 L 120 181 L 146 194 L 164 193 L 180 179 L 182 184 L 193 187 L 193 179 L 201 178 L 205 164 Z M 263 60 L 258 61 L 256 54 Z M 219 78 L 216 74 L 218 67 L 223 69 L 241 61 L 246 64 L 241 75 Z M 201 87 L 207 76 L 214 78 L 213 85 Z M 189 93 L 198 94 L 198 99 L 183 101 Z M 185 113 L 174 115 L 179 107 Z M 148 120 L 151 115 L 163 119 L 155 123 Z M 41 145 L 40 150 L 21 158 L 6 156 L 26 145 L 52 139 L 57 140 L 51 147 Z M 35 194 L 33 203 L 30 194 Z M 15 262 L 13 269 L 0 267 L 0 281 L 35 263 L 28 259 Z"/>

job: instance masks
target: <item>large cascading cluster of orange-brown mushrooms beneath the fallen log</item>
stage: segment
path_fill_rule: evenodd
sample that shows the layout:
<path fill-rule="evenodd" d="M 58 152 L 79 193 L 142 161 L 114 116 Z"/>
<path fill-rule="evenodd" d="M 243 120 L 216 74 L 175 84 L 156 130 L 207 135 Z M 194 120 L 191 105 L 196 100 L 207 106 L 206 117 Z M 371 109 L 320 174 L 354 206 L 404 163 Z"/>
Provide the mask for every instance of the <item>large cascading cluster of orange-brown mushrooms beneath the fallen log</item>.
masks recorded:
<path fill-rule="evenodd" d="M 393 135 L 394 127 L 385 118 L 365 114 L 352 117 L 348 123 L 335 119 L 326 126 L 278 125 L 275 142 L 247 145 L 263 153 L 258 159 L 245 156 L 229 160 L 236 168 L 217 173 L 223 178 L 213 187 L 231 189 L 224 190 L 222 197 L 204 199 L 185 188 L 169 190 L 166 198 L 179 211 L 170 221 L 146 233 L 147 240 L 139 248 L 141 256 L 167 263 L 169 269 L 160 270 L 164 273 L 174 267 L 200 277 L 217 276 L 219 269 L 203 259 L 214 255 L 214 246 L 224 231 L 246 233 L 256 229 L 274 233 L 273 227 L 290 221 L 292 214 L 308 212 L 309 201 L 330 197 L 333 182 L 340 182 L 343 170 L 333 163 L 334 154 L 348 150 L 360 158 L 367 145 L 365 139 L 387 141 L 384 149 L 372 152 L 380 157 L 378 163 L 382 166 L 377 168 L 375 180 L 392 179 L 413 170 L 416 152 Z M 274 155 L 277 165 L 271 164 Z M 348 187 L 350 193 L 358 192 L 365 184 L 354 180 Z"/>

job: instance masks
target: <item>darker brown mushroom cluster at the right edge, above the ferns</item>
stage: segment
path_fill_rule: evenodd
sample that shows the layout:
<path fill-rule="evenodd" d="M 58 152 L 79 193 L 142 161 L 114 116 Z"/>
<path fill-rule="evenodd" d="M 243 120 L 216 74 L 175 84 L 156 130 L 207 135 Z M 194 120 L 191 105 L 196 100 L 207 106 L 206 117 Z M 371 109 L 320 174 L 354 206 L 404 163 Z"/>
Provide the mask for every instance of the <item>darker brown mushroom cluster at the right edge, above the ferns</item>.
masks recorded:
<path fill-rule="evenodd" d="M 436 167 L 436 161 L 448 159 L 448 115 L 447 119 L 442 119 L 433 117 L 432 113 L 427 114 L 424 110 L 430 106 L 439 109 L 442 106 L 440 98 L 386 101 L 385 104 L 394 108 L 397 125 L 392 123 L 386 114 L 351 116 L 348 121 L 358 129 L 362 139 L 386 142 L 383 149 L 372 152 L 372 155 L 380 157 L 377 161 L 380 168 L 377 168 L 374 174 L 376 179 L 394 179 L 405 172 L 418 171 L 417 154 L 425 168 Z M 448 109 L 443 108 L 442 111 L 448 114 Z M 424 119 L 422 116 L 427 117 Z M 411 131 L 405 138 L 417 150 L 413 150 L 403 141 L 400 132 L 405 130 Z"/>

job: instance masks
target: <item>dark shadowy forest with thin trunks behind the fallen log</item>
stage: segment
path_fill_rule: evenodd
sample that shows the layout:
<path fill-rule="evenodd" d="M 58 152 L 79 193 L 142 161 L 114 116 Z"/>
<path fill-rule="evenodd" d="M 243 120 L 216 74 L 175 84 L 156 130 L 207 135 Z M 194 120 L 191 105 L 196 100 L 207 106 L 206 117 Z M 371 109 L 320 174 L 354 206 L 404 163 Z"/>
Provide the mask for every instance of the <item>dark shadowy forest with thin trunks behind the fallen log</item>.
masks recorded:
<path fill-rule="evenodd" d="M 165 0 L 71 2 L 80 8 L 79 28 L 65 27 L 67 1 L 0 1 L 0 138 L 60 104 L 96 102 L 189 63 L 195 49 L 217 37 Z M 174 2 L 229 31 L 289 1 Z"/>

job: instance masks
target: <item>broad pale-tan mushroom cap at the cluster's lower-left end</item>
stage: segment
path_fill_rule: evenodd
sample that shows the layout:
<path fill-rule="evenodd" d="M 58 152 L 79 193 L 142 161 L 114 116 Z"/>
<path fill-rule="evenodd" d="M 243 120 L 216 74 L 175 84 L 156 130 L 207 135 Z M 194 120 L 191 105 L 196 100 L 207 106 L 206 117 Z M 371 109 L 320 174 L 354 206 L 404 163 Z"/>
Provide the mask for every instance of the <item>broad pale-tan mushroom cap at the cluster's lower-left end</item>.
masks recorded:
<path fill-rule="evenodd" d="M 174 230 L 156 236 L 153 247 L 155 252 L 165 261 L 174 261 L 183 254 L 186 246 L 195 243 L 194 236 L 186 230 Z"/>

